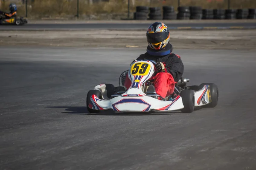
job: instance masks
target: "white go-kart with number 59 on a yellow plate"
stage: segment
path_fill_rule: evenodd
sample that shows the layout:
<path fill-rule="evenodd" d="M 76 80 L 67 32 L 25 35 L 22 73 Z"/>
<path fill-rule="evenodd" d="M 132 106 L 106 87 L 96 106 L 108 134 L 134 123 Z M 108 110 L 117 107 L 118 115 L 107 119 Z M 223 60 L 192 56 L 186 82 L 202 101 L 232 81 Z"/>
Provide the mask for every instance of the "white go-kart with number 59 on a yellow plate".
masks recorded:
<path fill-rule="evenodd" d="M 181 78 L 175 83 L 172 95 L 163 98 L 158 95 L 150 85 L 154 80 L 149 80 L 156 74 L 151 60 L 135 60 L 128 71 L 119 77 L 119 86 L 112 84 L 99 84 L 87 93 L 87 110 L 90 113 L 113 110 L 114 112 L 170 112 L 180 110 L 191 113 L 195 107 L 213 108 L 218 103 L 218 87 L 214 83 L 187 86 L 189 79 Z M 131 86 L 126 89 L 120 85 L 120 78 L 131 80 Z"/>

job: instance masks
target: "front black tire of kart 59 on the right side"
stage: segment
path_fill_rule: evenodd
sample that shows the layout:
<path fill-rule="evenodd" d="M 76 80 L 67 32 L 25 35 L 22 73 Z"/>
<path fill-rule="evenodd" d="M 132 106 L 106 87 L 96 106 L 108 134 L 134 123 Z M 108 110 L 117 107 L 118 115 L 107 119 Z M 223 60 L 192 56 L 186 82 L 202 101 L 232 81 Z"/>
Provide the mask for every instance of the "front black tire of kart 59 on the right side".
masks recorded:
<path fill-rule="evenodd" d="M 195 109 L 195 91 L 183 90 L 180 93 L 184 108 L 181 109 L 182 113 L 192 113 Z"/>

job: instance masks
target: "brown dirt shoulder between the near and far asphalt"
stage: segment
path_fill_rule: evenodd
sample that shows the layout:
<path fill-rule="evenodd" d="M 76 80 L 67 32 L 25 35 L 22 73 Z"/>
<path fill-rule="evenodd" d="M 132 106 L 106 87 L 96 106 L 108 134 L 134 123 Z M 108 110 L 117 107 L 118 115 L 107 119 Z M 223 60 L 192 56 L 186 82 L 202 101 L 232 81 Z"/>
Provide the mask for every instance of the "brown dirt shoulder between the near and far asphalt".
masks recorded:
<path fill-rule="evenodd" d="M 256 30 L 171 30 L 174 48 L 256 51 Z M 143 47 L 145 31 L 1 31 L 0 45 Z"/>

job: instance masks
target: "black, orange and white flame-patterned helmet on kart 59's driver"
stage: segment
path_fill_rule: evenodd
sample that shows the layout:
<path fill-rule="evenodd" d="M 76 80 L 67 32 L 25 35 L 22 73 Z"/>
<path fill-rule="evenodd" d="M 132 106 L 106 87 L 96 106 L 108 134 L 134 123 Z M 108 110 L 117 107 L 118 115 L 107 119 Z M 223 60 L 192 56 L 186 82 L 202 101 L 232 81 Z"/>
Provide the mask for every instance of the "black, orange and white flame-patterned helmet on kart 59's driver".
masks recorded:
<path fill-rule="evenodd" d="M 170 40 L 170 32 L 164 23 L 156 22 L 148 27 L 148 45 L 154 50 L 163 49 Z"/>

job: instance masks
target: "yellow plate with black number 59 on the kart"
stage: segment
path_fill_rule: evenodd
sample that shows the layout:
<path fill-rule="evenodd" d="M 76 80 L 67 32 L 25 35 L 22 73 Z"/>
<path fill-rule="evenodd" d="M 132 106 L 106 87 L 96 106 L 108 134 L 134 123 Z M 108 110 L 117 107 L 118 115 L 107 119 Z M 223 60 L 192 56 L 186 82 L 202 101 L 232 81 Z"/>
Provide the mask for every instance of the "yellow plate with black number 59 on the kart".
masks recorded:
<path fill-rule="evenodd" d="M 131 66 L 131 74 L 133 76 L 145 76 L 148 74 L 150 65 L 145 62 L 135 62 Z"/>

